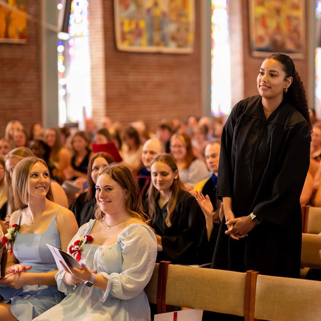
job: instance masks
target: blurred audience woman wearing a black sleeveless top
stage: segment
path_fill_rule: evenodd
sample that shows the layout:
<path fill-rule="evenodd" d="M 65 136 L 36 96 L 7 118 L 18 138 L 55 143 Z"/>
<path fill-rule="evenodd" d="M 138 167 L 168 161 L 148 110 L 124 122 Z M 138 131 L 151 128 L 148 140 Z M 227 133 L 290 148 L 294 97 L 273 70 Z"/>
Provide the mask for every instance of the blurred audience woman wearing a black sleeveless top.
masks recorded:
<path fill-rule="evenodd" d="M 64 170 L 65 178 L 75 180 L 86 177 L 88 164 L 92 156 L 91 141 L 82 131 L 76 132 L 71 140 L 73 156 L 71 166 Z"/>

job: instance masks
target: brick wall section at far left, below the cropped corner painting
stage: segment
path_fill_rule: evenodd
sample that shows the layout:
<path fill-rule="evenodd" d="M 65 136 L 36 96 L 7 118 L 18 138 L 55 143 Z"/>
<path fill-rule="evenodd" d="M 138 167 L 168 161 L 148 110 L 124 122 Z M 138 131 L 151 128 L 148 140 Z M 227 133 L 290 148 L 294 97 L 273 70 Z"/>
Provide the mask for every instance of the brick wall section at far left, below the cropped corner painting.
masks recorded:
<path fill-rule="evenodd" d="M 27 1 L 27 13 L 39 19 L 38 0 Z M 27 42 L 0 43 L 0 138 L 7 123 L 20 120 L 29 132 L 41 122 L 40 33 L 39 24 L 27 21 Z"/>

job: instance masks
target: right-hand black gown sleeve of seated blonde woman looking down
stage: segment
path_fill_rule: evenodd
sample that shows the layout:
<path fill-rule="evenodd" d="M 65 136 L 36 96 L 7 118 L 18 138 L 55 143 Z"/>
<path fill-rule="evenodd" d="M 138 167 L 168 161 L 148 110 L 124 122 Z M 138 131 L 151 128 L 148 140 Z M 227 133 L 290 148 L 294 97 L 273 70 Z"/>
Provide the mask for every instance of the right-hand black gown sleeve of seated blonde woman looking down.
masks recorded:
<path fill-rule="evenodd" d="M 180 218 L 177 221 L 180 232 L 175 236 L 161 237 L 163 253 L 174 264 L 196 264 L 199 263 L 202 233 L 206 229 L 204 214 L 194 197 L 180 203 L 180 206 L 180 212 L 175 213 Z M 181 226 L 184 227 L 183 230 Z"/>

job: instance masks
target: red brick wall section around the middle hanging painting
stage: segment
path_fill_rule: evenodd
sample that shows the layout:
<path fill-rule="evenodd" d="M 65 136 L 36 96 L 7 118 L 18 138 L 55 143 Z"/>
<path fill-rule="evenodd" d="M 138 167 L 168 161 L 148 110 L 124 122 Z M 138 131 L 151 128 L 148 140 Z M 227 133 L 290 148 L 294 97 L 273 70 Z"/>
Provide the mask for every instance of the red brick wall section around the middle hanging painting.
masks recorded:
<path fill-rule="evenodd" d="M 201 116 L 200 2 L 195 4 L 195 43 L 194 52 L 190 55 L 118 51 L 113 1 L 91 0 L 90 17 L 99 16 L 97 11 L 100 5 L 104 19 L 105 61 L 101 66 L 105 65 L 105 115 L 125 126 L 143 119 L 152 130 L 163 118 L 183 119 L 192 114 Z M 90 29 L 91 65 L 95 66 L 96 71 L 99 62 L 95 59 L 103 56 L 99 52 L 102 46 L 97 30 L 97 26 Z M 92 84 L 94 77 L 92 72 Z M 100 100 L 97 94 L 92 89 L 93 117 L 96 121 L 102 116 L 99 106 L 95 106 L 95 102 Z"/>

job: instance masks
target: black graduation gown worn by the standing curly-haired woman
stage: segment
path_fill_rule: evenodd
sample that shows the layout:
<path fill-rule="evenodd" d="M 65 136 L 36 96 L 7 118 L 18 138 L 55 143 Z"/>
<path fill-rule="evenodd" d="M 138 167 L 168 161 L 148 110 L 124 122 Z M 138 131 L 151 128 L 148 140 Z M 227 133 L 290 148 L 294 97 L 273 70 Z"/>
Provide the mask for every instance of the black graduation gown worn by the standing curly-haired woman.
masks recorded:
<path fill-rule="evenodd" d="M 223 128 L 217 196 L 232 198 L 235 217 L 260 220 L 239 241 L 222 221 L 212 267 L 299 277 L 300 194 L 310 161 L 307 121 L 283 100 L 265 119 L 261 96 L 237 103 Z"/>

